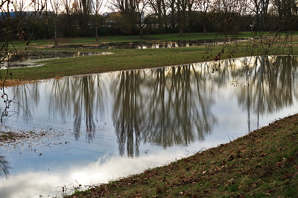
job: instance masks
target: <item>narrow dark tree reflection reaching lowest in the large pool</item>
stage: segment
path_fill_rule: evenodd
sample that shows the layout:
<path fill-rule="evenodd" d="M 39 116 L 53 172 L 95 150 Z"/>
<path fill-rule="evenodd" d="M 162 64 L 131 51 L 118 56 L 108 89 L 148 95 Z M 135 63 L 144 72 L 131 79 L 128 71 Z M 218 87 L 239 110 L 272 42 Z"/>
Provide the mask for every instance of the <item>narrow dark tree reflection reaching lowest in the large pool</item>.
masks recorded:
<path fill-rule="evenodd" d="M 128 156 L 139 156 L 140 134 L 147 120 L 143 107 L 146 100 L 141 93 L 144 82 L 145 73 L 141 70 L 122 71 L 112 87 L 112 119 L 121 156 L 125 153 L 125 145 Z"/>

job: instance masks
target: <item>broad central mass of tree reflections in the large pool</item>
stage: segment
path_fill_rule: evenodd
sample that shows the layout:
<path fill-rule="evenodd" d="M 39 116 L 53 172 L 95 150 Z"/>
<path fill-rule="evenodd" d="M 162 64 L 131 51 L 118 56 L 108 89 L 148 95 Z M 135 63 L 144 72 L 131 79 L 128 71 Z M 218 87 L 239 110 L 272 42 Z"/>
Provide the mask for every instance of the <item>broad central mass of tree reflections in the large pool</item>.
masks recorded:
<path fill-rule="evenodd" d="M 137 157 L 141 141 L 186 146 L 203 140 L 216 123 L 210 111 L 212 93 L 202 76 L 191 65 L 165 70 L 123 71 L 114 82 L 112 119 L 120 155 L 126 147 L 129 157 Z"/>

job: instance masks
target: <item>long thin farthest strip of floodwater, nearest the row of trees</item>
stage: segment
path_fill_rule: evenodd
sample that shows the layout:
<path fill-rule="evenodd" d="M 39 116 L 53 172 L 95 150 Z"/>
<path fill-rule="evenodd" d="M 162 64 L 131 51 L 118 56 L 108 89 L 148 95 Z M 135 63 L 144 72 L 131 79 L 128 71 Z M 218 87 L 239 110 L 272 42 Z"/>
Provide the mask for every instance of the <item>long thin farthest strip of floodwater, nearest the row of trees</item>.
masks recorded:
<path fill-rule="evenodd" d="M 224 42 L 224 39 L 203 39 L 203 40 L 176 40 L 176 41 L 134 41 L 114 43 L 92 43 L 92 44 L 64 44 L 55 48 L 63 49 L 152 49 L 168 47 L 190 47 L 199 45 L 210 45 L 214 42 Z M 229 41 L 230 42 L 230 41 Z M 52 48 L 54 46 L 38 46 L 39 48 Z"/>

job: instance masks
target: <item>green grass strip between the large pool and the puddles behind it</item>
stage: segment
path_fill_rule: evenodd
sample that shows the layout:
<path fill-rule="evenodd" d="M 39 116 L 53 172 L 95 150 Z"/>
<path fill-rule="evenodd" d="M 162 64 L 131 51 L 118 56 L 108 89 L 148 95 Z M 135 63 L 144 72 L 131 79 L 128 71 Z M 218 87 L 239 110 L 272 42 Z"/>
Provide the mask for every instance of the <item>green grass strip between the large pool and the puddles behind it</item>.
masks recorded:
<path fill-rule="evenodd" d="M 215 45 L 212 52 L 209 53 L 206 53 L 206 46 L 177 47 L 174 49 L 80 49 L 80 51 L 109 51 L 113 54 L 41 61 L 40 63 L 45 63 L 46 65 L 40 67 L 10 69 L 9 72 L 12 73 L 12 76 L 9 75 L 8 79 L 19 82 L 126 69 L 163 67 L 212 61 L 217 56 L 218 52 L 221 52 L 221 49 L 221 45 Z M 249 50 L 247 50 L 245 45 L 243 45 L 242 49 L 240 47 L 239 49 L 240 50 L 238 50 L 237 53 L 233 54 L 233 58 L 250 56 L 250 54 L 248 54 Z M 293 46 L 293 54 L 298 54 L 298 45 Z M 224 53 L 221 56 L 221 59 L 229 58 L 228 55 L 229 53 Z"/>

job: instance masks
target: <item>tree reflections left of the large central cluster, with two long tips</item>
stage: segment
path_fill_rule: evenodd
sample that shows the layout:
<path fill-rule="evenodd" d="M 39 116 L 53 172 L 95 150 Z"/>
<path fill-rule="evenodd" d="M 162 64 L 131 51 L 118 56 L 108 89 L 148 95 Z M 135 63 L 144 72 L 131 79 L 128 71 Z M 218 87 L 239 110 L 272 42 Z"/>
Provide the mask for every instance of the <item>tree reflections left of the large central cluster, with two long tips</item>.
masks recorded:
<path fill-rule="evenodd" d="M 99 76 L 98 78 L 100 78 Z M 80 138 L 82 123 L 86 127 L 86 141 L 91 142 L 94 139 L 94 103 L 100 102 L 96 99 L 98 92 L 95 90 L 95 87 L 100 87 L 98 83 L 98 79 L 96 80 L 93 76 L 81 76 L 75 79 L 64 78 L 53 82 L 51 96 L 54 102 L 50 102 L 49 110 L 57 109 L 56 105 L 58 104 L 61 105 L 58 107 L 61 118 L 65 117 L 65 113 L 73 115 L 73 131 L 76 140 Z"/>

